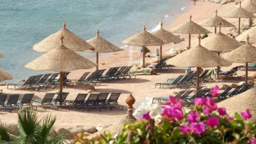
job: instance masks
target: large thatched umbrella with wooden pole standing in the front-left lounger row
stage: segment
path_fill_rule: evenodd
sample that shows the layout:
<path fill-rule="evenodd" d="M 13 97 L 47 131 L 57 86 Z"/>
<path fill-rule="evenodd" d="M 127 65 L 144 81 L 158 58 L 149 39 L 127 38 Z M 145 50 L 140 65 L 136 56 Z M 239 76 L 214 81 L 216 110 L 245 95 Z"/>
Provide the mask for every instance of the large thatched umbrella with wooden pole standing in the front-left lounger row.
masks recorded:
<path fill-rule="evenodd" d="M 61 35 L 60 45 L 41 57 L 29 62 L 25 67 L 33 70 L 52 70 L 60 72 L 60 105 L 62 100 L 63 72 L 77 69 L 90 69 L 95 63 L 63 46 Z M 67 40 L 68 41 L 68 40 Z"/>

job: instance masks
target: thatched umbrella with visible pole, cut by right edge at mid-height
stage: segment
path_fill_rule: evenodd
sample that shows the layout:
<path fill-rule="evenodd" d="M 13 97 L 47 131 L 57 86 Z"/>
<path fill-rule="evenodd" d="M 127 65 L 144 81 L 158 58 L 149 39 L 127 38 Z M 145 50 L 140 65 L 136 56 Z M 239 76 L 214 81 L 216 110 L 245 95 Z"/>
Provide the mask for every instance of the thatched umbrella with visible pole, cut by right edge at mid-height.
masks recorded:
<path fill-rule="evenodd" d="M 249 43 L 249 35 L 246 39 L 247 44 L 231 51 L 225 57 L 230 62 L 245 63 L 245 84 L 248 81 L 248 63 L 256 62 L 256 47 Z"/>

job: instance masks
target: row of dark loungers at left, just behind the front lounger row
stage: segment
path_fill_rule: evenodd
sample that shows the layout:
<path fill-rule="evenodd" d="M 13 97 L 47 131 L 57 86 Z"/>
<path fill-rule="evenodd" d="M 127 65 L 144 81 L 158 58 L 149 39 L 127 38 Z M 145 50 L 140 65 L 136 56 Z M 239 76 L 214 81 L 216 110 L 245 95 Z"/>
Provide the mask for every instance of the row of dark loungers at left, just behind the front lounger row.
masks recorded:
<path fill-rule="evenodd" d="M 68 76 L 70 72 L 64 73 L 65 77 Z M 21 86 L 24 87 L 26 90 L 27 89 L 33 89 L 35 90 L 38 88 L 38 91 L 42 88 L 45 87 L 45 89 L 51 87 L 52 89 L 55 89 L 59 84 L 60 84 L 60 78 L 55 79 L 60 73 L 55 73 L 55 74 L 45 74 L 45 75 L 36 75 L 36 76 L 30 76 L 27 81 L 25 82 L 18 82 L 18 83 L 9 83 L 7 84 L 7 89 L 9 89 L 9 86 Z M 74 85 L 71 81 L 66 79 L 63 81 L 63 86 L 67 85 Z"/>

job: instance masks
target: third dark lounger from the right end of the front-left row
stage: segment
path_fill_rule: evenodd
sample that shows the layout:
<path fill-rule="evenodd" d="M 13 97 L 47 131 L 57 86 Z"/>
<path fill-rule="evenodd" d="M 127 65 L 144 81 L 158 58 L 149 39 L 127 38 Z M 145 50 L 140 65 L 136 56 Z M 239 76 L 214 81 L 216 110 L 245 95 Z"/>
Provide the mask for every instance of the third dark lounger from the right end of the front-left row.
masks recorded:
<path fill-rule="evenodd" d="M 102 107 L 98 105 L 97 100 L 99 98 L 99 93 L 91 93 L 87 100 L 84 101 L 84 108 L 90 111 L 91 108 L 97 108 L 101 111 Z"/>

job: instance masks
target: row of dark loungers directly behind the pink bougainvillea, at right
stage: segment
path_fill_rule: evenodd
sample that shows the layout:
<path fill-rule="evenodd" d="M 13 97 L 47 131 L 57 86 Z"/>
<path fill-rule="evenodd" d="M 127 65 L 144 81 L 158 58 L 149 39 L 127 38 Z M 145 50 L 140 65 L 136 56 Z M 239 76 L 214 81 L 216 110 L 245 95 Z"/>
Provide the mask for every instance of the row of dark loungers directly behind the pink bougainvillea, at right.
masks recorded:
<path fill-rule="evenodd" d="M 218 99 L 219 100 L 224 100 L 224 99 L 227 99 L 227 96 L 233 97 L 234 95 L 237 95 L 239 93 L 242 93 L 242 92 L 245 92 L 245 91 L 251 89 L 253 86 L 254 85 L 252 85 L 252 84 L 240 85 L 240 86 L 237 86 L 232 91 L 231 91 L 231 89 L 233 89 L 233 88 L 229 87 L 225 91 L 223 91 L 222 93 L 218 93 Z M 194 102 L 195 98 L 201 98 L 202 95 L 205 98 L 206 97 L 213 98 L 211 93 L 210 93 L 210 89 L 199 90 L 194 95 L 190 95 L 192 92 L 193 92 L 193 90 L 182 90 L 177 95 L 175 95 L 175 97 L 179 97 L 180 99 L 182 99 L 186 102 L 189 102 L 189 101 Z M 168 99 L 169 99 L 169 97 L 156 97 L 156 98 L 153 98 L 153 102 L 154 102 L 154 100 L 157 100 L 159 103 L 165 104 Z"/>

